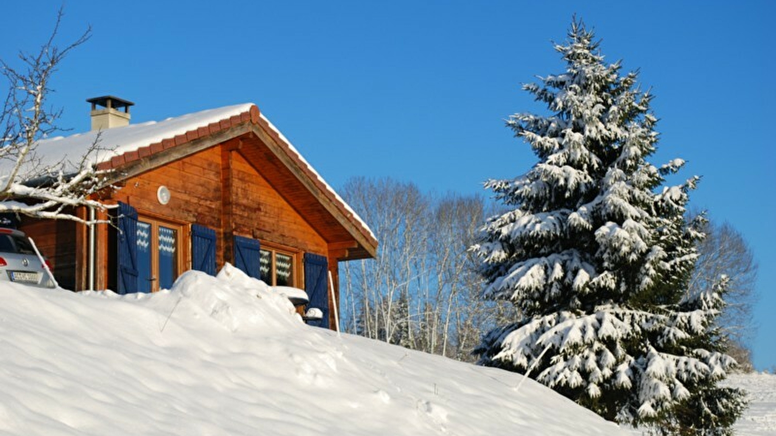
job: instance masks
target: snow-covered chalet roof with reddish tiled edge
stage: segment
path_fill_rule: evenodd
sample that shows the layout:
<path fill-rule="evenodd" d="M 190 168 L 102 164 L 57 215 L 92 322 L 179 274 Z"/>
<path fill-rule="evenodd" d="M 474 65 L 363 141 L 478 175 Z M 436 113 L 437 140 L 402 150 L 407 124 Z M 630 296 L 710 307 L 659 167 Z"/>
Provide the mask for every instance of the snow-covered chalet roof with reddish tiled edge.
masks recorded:
<path fill-rule="evenodd" d="M 281 148 L 300 164 L 300 168 L 307 172 L 318 188 L 331 197 L 332 202 L 349 220 L 357 224 L 356 227 L 359 227 L 365 236 L 376 242 L 375 234 L 364 220 L 253 103 L 207 109 L 162 121 L 148 121 L 100 131 L 93 130 L 69 137 L 48 138 L 38 143 L 36 154 L 40 164 L 55 166 L 64 162 L 64 170 L 68 171 L 69 168 L 75 168 L 71 163 L 78 163 L 99 138 L 99 151 L 91 154 L 88 161 L 100 170 L 109 170 L 247 121 L 265 126 L 275 133 L 273 136 L 279 140 Z"/>

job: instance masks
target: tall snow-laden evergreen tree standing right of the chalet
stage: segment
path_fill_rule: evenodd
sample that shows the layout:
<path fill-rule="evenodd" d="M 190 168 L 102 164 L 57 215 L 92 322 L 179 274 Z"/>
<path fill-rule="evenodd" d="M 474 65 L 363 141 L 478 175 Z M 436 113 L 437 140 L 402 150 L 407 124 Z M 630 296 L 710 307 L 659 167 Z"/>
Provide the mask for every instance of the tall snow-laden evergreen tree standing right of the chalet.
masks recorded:
<path fill-rule="evenodd" d="M 484 296 L 511 300 L 521 319 L 475 352 L 482 365 L 535 365 L 530 377 L 609 420 L 729 434 L 745 404 L 717 386 L 735 363 L 712 324 L 724 283 L 688 295 L 703 234 L 702 217 L 684 212 L 698 178 L 663 185 L 684 161 L 646 161 L 658 137 L 652 96 L 636 73 L 605 64 L 582 22 L 568 36 L 555 47 L 566 72 L 523 87 L 552 114 L 507 122 L 539 162 L 486 184 L 511 210 L 472 247 Z"/>

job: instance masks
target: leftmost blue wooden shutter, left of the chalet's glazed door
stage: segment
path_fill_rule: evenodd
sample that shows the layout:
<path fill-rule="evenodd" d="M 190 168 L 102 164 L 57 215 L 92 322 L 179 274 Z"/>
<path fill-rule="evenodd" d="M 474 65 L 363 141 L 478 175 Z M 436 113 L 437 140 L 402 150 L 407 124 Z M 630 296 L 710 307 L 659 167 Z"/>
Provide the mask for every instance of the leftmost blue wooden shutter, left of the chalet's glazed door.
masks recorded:
<path fill-rule="evenodd" d="M 119 202 L 116 226 L 116 292 L 137 292 L 137 210 Z"/>

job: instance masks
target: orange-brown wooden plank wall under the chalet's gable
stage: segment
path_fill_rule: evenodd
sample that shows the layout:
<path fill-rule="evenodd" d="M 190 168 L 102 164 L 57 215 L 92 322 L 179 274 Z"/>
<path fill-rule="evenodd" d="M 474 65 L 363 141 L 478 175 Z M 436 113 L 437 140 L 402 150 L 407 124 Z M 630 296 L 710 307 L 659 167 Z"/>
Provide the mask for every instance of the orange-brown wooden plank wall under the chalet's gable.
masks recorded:
<path fill-rule="evenodd" d="M 232 258 L 232 237 L 237 234 L 301 252 L 327 254 L 320 234 L 279 195 L 239 152 L 238 140 L 192 154 L 164 167 L 128 178 L 111 202 L 126 202 L 140 215 L 173 223 L 199 223 L 217 232 L 216 263 L 220 269 Z M 160 185 L 171 193 L 163 206 L 156 197 Z M 188 240 L 189 235 L 185 235 Z M 105 246 L 105 249 L 109 247 Z M 185 268 L 191 268 L 189 249 Z M 101 256 L 105 270 L 108 256 Z M 300 257 L 301 258 L 301 257 Z M 300 270 L 301 265 L 296 265 Z M 112 280 L 105 279 L 108 285 Z"/>

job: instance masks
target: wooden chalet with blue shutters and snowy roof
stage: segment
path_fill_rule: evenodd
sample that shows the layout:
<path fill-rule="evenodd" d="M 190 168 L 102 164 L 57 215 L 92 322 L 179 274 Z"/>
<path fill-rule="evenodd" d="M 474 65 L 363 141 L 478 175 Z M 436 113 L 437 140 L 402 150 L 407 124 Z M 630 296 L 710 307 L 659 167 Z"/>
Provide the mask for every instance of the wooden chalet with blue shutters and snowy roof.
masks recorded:
<path fill-rule="evenodd" d="M 88 102 L 92 132 L 44 140 L 37 153 L 72 160 L 99 132 L 107 151 L 94 164 L 113 188 L 94 198 L 116 207 L 76 213 L 112 225 L 25 219 L 19 226 L 62 287 L 154 292 L 186 270 L 214 275 L 230 262 L 269 285 L 304 289 L 324 312 L 320 325 L 333 325 L 338 262 L 374 257 L 377 240 L 258 107 L 130 124 L 132 102 Z"/>

